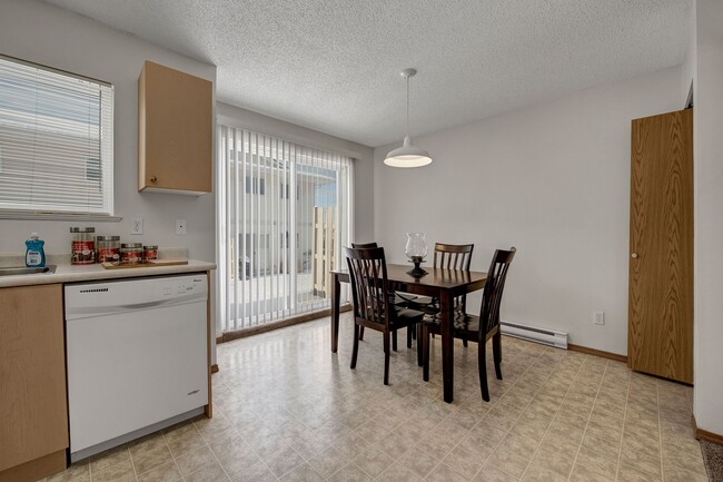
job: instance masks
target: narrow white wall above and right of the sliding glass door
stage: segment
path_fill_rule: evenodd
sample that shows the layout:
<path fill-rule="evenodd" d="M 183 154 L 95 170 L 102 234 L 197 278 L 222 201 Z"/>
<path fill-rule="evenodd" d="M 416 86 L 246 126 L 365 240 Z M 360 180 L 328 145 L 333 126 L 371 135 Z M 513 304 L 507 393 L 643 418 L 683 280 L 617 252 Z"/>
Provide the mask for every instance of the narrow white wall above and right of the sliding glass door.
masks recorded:
<path fill-rule="evenodd" d="M 353 157 L 355 159 L 355 237 L 356 239 L 374 238 L 374 149 L 224 102 L 216 105 L 216 112 L 219 124 L 250 129 L 304 146 Z"/>

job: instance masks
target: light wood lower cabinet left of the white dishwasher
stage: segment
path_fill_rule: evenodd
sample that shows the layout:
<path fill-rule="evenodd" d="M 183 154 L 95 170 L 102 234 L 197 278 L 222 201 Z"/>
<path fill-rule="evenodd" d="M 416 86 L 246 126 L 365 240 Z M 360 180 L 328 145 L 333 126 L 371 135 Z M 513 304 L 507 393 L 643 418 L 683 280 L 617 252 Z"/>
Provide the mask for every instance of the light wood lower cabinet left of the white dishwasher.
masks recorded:
<path fill-rule="evenodd" d="M 62 285 L 0 288 L 0 482 L 65 470 Z"/>

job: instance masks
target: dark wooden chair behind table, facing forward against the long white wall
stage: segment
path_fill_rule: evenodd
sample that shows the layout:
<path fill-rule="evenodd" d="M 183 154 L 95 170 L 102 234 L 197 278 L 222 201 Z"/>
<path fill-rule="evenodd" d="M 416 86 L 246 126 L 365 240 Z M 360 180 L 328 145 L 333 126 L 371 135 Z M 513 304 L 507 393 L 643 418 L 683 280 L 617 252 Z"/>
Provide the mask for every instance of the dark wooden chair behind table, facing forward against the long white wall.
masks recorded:
<path fill-rule="evenodd" d="M 459 269 L 469 270 L 472 263 L 472 252 L 474 244 L 453 245 L 446 243 L 435 243 L 433 267 L 440 269 Z M 419 309 L 432 317 L 439 317 L 439 298 L 419 296 L 410 298 L 407 294 L 399 294 L 405 301 L 405 305 L 412 309 Z M 455 297 L 455 318 L 463 318 L 467 313 L 467 295 Z M 463 341 L 467 346 L 467 341 Z"/>

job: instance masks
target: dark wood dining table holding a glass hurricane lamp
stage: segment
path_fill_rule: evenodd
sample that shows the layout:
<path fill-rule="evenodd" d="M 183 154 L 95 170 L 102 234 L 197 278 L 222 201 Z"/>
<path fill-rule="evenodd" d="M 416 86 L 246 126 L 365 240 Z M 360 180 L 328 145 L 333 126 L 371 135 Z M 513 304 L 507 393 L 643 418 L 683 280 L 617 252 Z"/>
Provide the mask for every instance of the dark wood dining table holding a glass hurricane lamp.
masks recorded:
<path fill-rule="evenodd" d="M 456 296 L 485 287 L 486 273 L 457 269 L 426 268 L 429 273 L 415 278 L 407 274 L 409 265 L 387 264 L 387 278 L 397 292 L 439 298 L 442 323 L 442 373 L 444 401 L 454 400 L 454 299 Z M 349 283 L 346 269 L 329 272 L 331 276 L 331 352 L 339 346 L 339 301 L 341 283 Z"/>

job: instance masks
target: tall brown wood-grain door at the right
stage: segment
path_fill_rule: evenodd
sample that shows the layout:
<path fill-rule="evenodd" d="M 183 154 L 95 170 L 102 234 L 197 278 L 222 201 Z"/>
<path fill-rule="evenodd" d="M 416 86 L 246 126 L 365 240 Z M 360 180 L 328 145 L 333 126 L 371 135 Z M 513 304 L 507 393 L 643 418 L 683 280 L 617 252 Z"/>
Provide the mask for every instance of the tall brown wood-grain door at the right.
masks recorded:
<path fill-rule="evenodd" d="M 627 366 L 693 383 L 693 110 L 633 120 Z"/>

